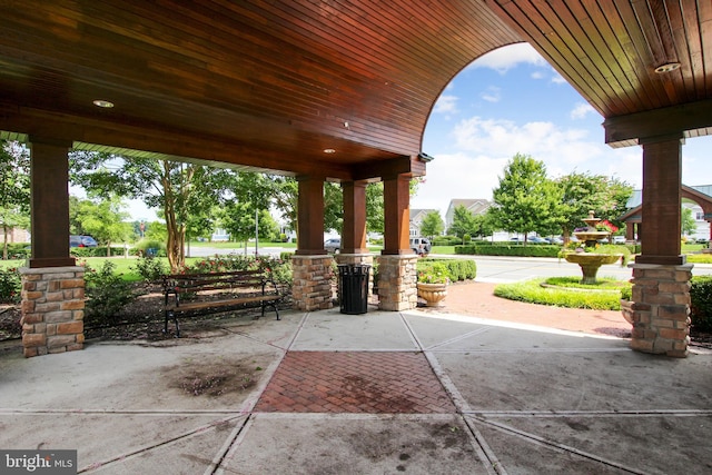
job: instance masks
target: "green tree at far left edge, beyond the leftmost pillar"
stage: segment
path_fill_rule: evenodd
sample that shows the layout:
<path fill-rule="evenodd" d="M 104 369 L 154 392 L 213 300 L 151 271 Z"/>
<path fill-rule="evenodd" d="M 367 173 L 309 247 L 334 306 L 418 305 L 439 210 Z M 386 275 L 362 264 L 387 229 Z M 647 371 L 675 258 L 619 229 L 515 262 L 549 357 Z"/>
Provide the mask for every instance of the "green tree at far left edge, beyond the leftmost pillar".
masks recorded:
<path fill-rule="evenodd" d="M 8 259 L 8 236 L 30 226 L 30 154 L 18 142 L 0 140 L 0 225 L 2 258 Z"/>

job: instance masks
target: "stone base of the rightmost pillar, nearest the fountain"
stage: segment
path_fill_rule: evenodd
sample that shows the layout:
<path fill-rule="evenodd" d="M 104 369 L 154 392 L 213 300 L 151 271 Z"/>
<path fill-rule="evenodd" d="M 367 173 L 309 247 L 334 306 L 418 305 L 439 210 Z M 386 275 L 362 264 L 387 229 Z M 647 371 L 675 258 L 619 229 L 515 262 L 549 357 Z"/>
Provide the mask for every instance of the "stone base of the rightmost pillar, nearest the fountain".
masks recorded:
<path fill-rule="evenodd" d="M 631 264 L 633 330 L 631 348 L 688 356 L 692 265 Z"/>

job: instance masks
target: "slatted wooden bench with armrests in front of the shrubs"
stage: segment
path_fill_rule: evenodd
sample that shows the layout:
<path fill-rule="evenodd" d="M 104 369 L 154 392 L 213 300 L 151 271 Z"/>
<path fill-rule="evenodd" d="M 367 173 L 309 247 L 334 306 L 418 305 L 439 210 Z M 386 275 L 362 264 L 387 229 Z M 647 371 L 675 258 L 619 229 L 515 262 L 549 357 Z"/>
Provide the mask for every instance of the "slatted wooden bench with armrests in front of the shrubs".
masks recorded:
<path fill-rule="evenodd" d="M 178 314 L 220 311 L 227 307 L 271 307 L 279 319 L 277 304 L 283 295 L 277 284 L 259 270 L 235 270 L 208 274 L 171 274 L 162 277 L 165 297 L 165 326 L 168 320 L 176 324 L 176 336 L 180 337 Z"/>

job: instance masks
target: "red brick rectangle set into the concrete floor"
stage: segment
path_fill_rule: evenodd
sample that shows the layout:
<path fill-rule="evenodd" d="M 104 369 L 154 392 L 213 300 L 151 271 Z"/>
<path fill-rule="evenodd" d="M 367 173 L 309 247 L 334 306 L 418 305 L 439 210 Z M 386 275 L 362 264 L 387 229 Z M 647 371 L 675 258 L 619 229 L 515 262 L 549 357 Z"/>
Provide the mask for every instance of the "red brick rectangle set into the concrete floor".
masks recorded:
<path fill-rule="evenodd" d="M 454 413 L 422 353 L 289 352 L 257 402 L 266 413 Z"/>

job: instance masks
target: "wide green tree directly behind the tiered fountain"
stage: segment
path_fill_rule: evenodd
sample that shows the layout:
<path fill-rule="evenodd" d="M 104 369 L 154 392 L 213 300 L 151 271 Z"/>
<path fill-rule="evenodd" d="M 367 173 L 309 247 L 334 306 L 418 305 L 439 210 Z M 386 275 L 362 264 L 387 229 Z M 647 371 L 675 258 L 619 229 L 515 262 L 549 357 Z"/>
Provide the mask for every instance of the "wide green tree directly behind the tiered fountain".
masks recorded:
<path fill-rule="evenodd" d="M 604 175 L 573 172 L 556 180 L 562 189 L 562 236 L 568 243 L 574 229 L 585 226 L 583 218 L 593 210 L 596 217 L 616 227 L 623 226 L 619 217 L 626 210 L 633 187 L 617 178 Z"/>

